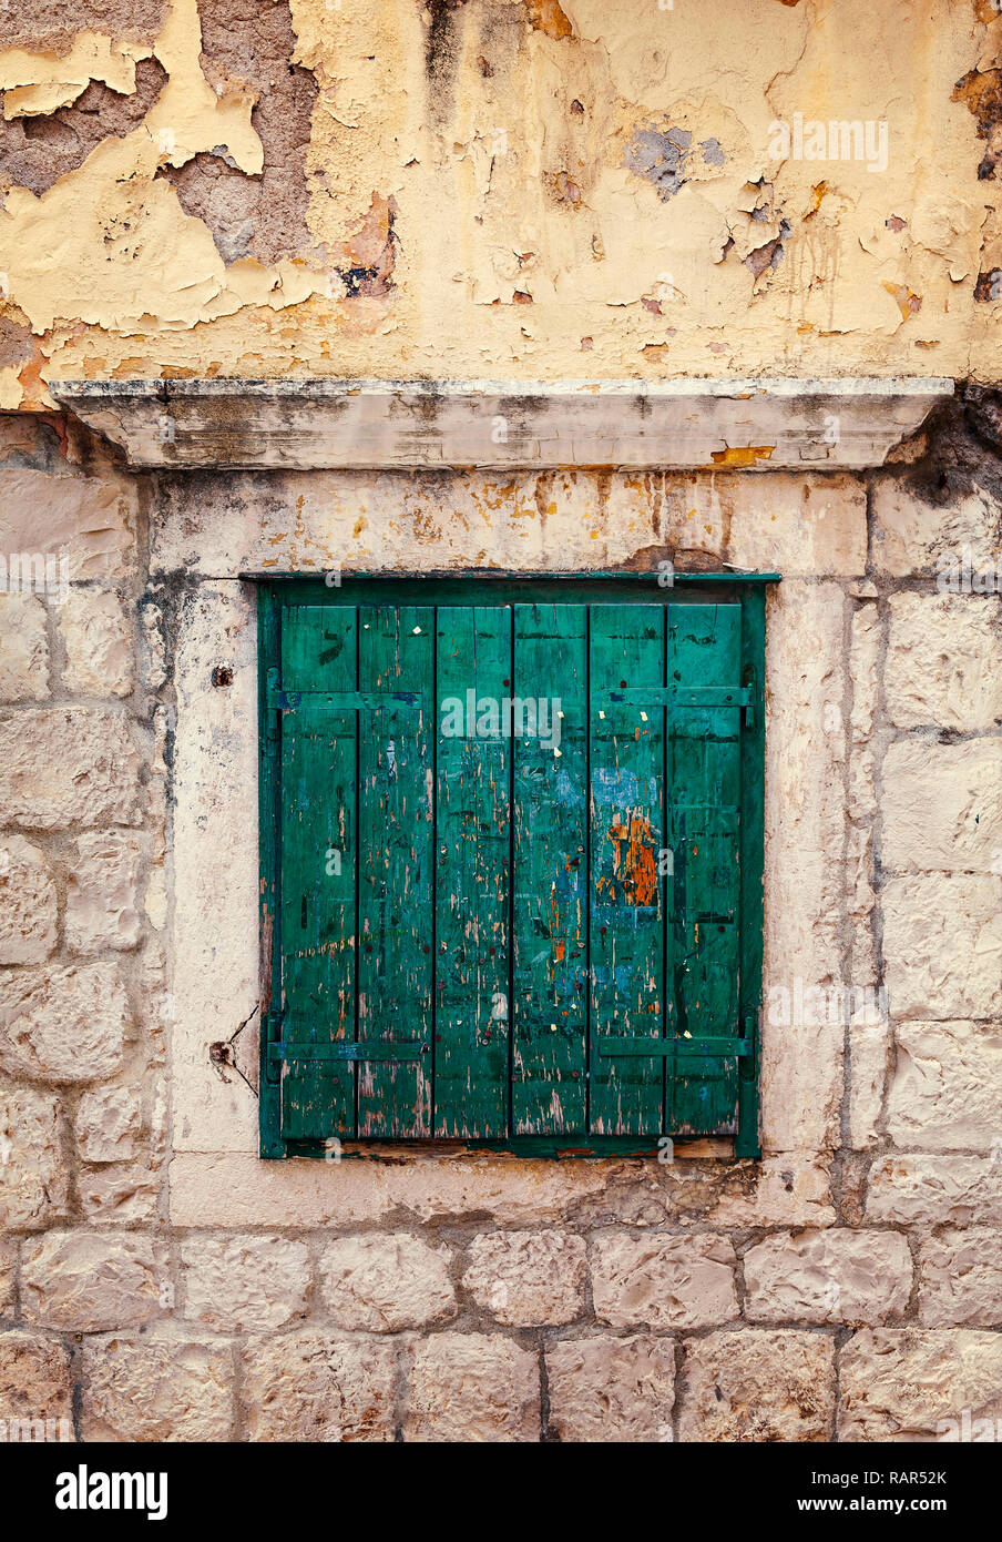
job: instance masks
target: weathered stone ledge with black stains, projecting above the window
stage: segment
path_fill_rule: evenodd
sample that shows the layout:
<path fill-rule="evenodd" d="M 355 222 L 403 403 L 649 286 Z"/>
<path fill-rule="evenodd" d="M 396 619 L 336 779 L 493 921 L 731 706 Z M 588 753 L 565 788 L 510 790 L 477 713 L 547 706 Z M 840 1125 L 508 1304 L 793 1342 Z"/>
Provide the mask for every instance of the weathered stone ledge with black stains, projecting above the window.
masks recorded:
<path fill-rule="evenodd" d="M 136 467 L 859 470 L 950 379 L 55 381 Z"/>

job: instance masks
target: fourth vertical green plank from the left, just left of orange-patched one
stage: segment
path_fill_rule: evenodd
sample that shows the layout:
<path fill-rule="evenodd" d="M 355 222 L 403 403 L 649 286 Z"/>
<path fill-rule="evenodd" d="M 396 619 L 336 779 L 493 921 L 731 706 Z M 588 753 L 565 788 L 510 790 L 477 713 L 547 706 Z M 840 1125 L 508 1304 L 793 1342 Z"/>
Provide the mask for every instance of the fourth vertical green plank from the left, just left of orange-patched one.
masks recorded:
<path fill-rule="evenodd" d="M 535 732 L 512 740 L 512 1130 L 584 1133 L 586 606 L 515 608 L 515 691 L 519 700 L 535 703 L 529 712 Z"/>

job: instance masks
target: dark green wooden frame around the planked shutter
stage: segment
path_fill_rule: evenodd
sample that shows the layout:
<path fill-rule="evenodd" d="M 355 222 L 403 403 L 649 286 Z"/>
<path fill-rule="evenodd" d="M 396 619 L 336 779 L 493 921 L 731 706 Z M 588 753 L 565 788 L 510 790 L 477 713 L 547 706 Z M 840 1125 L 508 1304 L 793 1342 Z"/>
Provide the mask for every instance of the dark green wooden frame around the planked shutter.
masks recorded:
<path fill-rule="evenodd" d="M 519 1156 L 661 1156 L 664 1136 L 655 1135 L 509 1135 L 504 1140 L 372 1138 L 290 1141 L 281 1135 L 281 1067 L 270 1045 L 281 1038 L 281 1018 L 271 1010 L 282 992 L 281 850 L 279 850 L 279 714 L 268 691 L 277 678 L 279 617 L 285 604 L 741 604 L 741 683 L 754 697 L 751 722 L 741 731 L 741 927 L 738 1021 L 752 1053 L 738 1061 L 737 1158 L 758 1160 L 760 1144 L 760 1027 L 763 968 L 763 842 L 765 842 L 765 611 L 766 586 L 778 574 L 686 572 L 672 574 L 661 588 L 658 572 L 504 574 L 466 572 L 424 577 L 338 574 L 330 586 L 301 575 L 274 577 L 257 584 L 259 648 L 259 854 L 261 854 L 261 1156 L 341 1156 L 447 1153 L 450 1149 L 509 1152 Z M 661 575 L 661 583 L 664 581 Z M 674 1138 L 674 1136 L 672 1136 Z M 678 1136 L 680 1143 L 684 1136 Z M 695 1140 L 700 1140 L 695 1136 Z M 725 1136 L 726 1140 L 726 1136 Z M 333 1149 L 333 1150 L 331 1150 Z"/>

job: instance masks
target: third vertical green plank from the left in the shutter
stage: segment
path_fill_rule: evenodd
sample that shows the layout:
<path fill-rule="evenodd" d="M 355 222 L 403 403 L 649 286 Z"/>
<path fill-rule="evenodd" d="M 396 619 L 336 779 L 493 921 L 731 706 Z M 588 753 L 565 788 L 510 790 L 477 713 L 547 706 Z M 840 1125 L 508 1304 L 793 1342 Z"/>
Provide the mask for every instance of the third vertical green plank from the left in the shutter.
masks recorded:
<path fill-rule="evenodd" d="M 509 606 L 441 606 L 435 1133 L 509 1133 Z M 459 729 L 459 732 L 455 732 Z"/>

